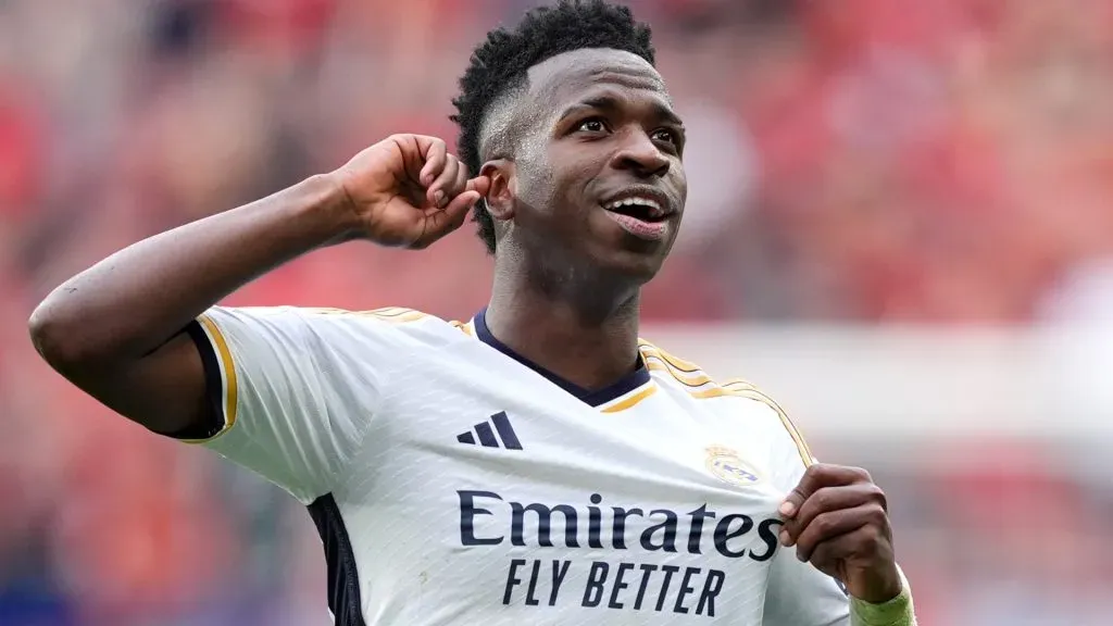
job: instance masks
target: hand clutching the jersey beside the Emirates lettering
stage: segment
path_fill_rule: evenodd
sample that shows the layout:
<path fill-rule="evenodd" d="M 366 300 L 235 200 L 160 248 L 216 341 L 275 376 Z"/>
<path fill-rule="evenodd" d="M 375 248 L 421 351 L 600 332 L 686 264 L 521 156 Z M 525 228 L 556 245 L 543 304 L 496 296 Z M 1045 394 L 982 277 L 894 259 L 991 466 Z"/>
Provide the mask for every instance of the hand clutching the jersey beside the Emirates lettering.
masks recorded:
<path fill-rule="evenodd" d="M 784 546 L 871 604 L 900 594 L 885 492 L 858 468 L 816 463 L 780 506 Z"/>

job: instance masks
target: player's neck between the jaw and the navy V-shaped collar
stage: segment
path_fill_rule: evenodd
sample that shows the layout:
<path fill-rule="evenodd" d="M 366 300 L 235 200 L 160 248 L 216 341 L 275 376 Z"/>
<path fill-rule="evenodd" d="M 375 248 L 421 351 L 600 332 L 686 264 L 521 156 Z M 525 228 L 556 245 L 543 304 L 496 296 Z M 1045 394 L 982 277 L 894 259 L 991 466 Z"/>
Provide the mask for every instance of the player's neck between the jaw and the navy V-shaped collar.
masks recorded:
<path fill-rule="evenodd" d="M 499 341 L 589 390 L 603 389 L 634 370 L 637 286 L 617 288 L 598 278 L 584 284 L 574 276 L 553 281 L 499 265 L 485 316 Z"/>

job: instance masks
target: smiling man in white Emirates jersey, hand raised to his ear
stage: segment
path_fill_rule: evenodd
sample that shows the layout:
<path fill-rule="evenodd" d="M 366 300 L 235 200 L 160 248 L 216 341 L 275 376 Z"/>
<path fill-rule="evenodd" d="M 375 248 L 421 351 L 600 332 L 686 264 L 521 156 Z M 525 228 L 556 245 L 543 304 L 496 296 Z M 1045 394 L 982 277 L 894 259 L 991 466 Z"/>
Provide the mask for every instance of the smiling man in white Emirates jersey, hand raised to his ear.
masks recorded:
<path fill-rule="evenodd" d="M 624 8 L 533 11 L 461 80 L 462 160 L 393 136 L 135 244 L 52 293 L 35 343 L 306 503 L 336 624 L 910 624 L 868 475 L 638 339 L 686 196 L 652 61 Z M 422 248 L 472 207 L 495 273 L 467 323 L 215 305 L 323 245 Z"/>

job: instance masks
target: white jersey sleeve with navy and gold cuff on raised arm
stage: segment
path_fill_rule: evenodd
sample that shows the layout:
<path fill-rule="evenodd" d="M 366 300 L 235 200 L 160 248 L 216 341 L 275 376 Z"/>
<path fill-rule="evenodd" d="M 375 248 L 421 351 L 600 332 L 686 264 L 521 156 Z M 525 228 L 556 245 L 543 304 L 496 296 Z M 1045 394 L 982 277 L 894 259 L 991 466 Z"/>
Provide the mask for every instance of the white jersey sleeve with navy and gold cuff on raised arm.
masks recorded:
<path fill-rule="evenodd" d="M 392 330 L 326 310 L 213 307 L 187 331 L 215 422 L 176 437 L 312 502 L 363 444 L 397 358 Z"/>

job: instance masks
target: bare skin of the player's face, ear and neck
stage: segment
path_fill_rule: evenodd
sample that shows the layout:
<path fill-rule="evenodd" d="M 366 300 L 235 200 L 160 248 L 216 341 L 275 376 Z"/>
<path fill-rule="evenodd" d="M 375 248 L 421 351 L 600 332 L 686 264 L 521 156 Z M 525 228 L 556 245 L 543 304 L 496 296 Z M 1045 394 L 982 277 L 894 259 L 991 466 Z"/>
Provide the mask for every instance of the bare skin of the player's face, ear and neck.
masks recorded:
<path fill-rule="evenodd" d="M 513 160 L 481 169 L 499 232 L 486 320 L 524 356 L 600 389 L 638 361 L 639 290 L 668 256 L 687 197 L 683 128 L 660 75 L 628 52 L 560 55 L 529 79 Z M 669 198 L 661 241 L 630 235 L 603 211 L 632 186 Z"/>

